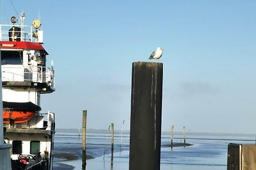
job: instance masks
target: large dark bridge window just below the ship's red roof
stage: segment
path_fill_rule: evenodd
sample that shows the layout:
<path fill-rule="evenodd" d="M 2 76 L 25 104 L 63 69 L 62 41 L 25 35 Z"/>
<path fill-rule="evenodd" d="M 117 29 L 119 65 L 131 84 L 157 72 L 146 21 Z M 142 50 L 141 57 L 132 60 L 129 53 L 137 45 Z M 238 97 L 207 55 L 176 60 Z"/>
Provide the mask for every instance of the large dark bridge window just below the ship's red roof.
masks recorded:
<path fill-rule="evenodd" d="M 22 65 L 23 53 L 22 51 L 1 51 L 1 62 L 5 64 Z"/>

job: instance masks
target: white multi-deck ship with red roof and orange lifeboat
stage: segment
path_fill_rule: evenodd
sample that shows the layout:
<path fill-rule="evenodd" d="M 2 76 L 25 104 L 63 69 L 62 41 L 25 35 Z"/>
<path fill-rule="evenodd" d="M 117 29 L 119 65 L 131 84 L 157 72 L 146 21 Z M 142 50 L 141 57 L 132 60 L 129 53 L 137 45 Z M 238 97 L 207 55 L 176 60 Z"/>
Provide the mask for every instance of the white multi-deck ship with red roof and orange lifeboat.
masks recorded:
<path fill-rule="evenodd" d="M 53 62 L 47 66 L 40 20 L 24 19 L 0 25 L 4 143 L 12 170 L 52 170 L 55 114 L 43 113 L 40 99 L 55 91 Z"/>

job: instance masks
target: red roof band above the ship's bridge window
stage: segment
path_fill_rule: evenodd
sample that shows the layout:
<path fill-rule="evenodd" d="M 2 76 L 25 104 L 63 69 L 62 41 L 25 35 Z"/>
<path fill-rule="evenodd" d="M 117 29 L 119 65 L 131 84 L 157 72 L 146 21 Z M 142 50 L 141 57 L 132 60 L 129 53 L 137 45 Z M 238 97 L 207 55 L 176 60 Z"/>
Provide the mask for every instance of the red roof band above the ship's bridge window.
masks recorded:
<path fill-rule="evenodd" d="M 27 41 L 0 41 L 0 48 L 3 49 L 29 49 L 29 50 L 44 50 L 40 43 Z"/>

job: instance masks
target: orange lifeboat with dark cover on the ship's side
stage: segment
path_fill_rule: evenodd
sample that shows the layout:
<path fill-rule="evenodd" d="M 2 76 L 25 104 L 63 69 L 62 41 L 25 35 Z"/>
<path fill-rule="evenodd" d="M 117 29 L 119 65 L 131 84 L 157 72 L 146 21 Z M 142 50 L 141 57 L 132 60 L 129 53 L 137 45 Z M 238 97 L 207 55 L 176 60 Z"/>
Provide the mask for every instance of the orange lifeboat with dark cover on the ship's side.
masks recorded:
<path fill-rule="evenodd" d="M 28 122 L 35 116 L 35 113 L 40 111 L 40 106 L 31 102 L 16 103 L 3 101 L 3 122 L 23 123 Z"/>

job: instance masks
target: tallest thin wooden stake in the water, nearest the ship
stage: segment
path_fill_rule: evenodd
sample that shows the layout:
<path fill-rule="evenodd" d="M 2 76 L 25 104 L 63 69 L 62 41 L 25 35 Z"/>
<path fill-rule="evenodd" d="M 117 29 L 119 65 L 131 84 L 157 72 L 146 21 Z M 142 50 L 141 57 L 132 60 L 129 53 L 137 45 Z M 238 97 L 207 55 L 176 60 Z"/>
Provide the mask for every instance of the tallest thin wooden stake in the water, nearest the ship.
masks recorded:
<path fill-rule="evenodd" d="M 83 110 L 83 170 L 86 169 L 86 116 L 87 110 Z"/>

